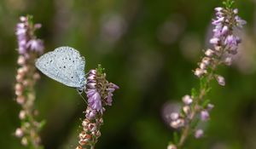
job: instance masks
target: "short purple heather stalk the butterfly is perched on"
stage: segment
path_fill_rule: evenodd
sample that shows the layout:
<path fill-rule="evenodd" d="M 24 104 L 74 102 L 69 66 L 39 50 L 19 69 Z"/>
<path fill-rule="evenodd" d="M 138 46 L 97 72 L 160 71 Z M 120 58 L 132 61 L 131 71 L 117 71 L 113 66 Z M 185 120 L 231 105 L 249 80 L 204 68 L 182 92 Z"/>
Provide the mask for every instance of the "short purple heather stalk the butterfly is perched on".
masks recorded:
<path fill-rule="evenodd" d="M 87 77 L 85 93 L 87 95 L 87 109 L 82 122 L 83 130 L 79 134 L 79 146 L 76 149 L 94 149 L 98 138 L 101 136 L 100 128 L 103 124 L 105 106 L 112 106 L 113 91 L 119 87 L 108 83 L 106 73 L 101 65 L 95 70 L 90 70 Z"/>

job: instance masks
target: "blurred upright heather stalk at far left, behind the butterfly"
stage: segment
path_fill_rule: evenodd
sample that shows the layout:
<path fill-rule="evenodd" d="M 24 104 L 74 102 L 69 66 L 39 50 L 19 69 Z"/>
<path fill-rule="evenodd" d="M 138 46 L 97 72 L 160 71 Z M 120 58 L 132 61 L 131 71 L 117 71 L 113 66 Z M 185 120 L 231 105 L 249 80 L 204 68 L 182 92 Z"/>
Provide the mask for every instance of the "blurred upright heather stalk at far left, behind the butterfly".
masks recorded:
<path fill-rule="evenodd" d="M 43 41 L 34 34 L 40 27 L 40 24 L 33 24 L 32 16 L 21 16 L 15 32 L 19 46 L 17 49 L 19 68 L 16 75 L 15 100 L 21 106 L 19 114 L 21 125 L 15 130 L 15 136 L 20 138 L 23 146 L 35 149 L 43 148 L 40 146 L 41 139 L 38 132 L 44 125 L 44 121 L 36 120 L 38 111 L 34 108 L 34 86 L 40 77 L 36 72 L 34 61 L 44 51 Z"/>

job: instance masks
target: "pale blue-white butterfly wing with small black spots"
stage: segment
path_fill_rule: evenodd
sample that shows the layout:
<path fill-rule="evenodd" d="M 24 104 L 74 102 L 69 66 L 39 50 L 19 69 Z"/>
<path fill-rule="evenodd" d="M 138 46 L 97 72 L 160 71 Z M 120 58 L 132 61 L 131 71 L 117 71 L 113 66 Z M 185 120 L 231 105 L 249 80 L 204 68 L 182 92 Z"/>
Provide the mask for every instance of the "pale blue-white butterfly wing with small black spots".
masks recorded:
<path fill-rule="evenodd" d="M 46 76 L 73 88 L 83 88 L 85 60 L 79 51 L 60 47 L 42 55 L 36 61 L 38 70 Z"/>

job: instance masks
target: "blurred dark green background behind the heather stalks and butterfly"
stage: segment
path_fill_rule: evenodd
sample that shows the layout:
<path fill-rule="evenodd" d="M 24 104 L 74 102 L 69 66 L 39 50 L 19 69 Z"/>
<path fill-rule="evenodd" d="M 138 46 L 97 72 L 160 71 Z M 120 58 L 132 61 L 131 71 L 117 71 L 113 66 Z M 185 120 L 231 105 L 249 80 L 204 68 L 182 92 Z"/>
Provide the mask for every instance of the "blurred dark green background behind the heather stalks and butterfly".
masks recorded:
<path fill-rule="evenodd" d="M 16 149 L 20 106 L 14 84 L 18 57 L 15 24 L 32 14 L 43 27 L 45 52 L 62 45 L 79 49 L 86 71 L 101 63 L 108 80 L 119 85 L 104 115 L 100 148 L 166 148 L 173 129 L 165 120 L 170 106 L 198 84 L 191 70 L 211 34 L 219 0 L 1 0 L 0 1 L 0 148 Z M 191 137 L 188 148 L 256 148 L 256 1 L 236 2 L 247 20 L 243 43 L 231 67 L 221 67 L 226 86 L 212 82 L 208 98 L 215 108 L 203 123 L 206 136 Z M 75 89 L 42 75 L 36 85 L 41 133 L 46 149 L 78 144 L 86 108 Z"/>

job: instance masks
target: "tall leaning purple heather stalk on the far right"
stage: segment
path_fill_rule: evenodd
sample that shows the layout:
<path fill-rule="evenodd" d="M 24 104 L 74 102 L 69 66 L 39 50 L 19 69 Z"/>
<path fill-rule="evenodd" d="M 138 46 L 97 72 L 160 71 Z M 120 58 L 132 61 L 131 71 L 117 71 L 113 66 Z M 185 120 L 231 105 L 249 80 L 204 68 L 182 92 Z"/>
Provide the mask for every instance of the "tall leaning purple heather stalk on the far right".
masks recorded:
<path fill-rule="evenodd" d="M 219 85 L 225 85 L 224 77 L 218 75 L 217 68 L 220 65 L 230 66 L 232 56 L 237 53 L 241 38 L 234 34 L 236 29 L 241 29 L 246 24 L 238 16 L 238 9 L 233 9 L 234 2 L 226 0 L 224 7 L 215 8 L 216 18 L 212 20 L 214 26 L 213 37 L 210 39 L 212 49 L 205 50 L 205 56 L 195 69 L 194 74 L 200 79 L 199 89 L 192 89 L 191 95 L 183 96 L 181 112 L 172 112 L 170 125 L 174 129 L 180 129 L 180 135 L 174 133 L 172 141 L 167 149 L 183 148 L 185 141 L 191 134 L 195 138 L 204 135 L 203 129 L 198 128 L 198 123 L 206 122 L 210 118 L 213 105 L 206 95 L 211 89 L 210 83 L 216 80 Z"/>

